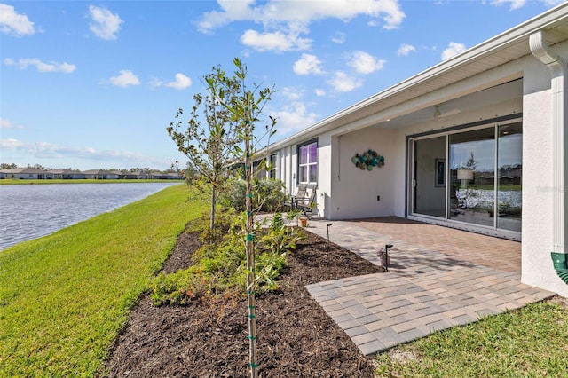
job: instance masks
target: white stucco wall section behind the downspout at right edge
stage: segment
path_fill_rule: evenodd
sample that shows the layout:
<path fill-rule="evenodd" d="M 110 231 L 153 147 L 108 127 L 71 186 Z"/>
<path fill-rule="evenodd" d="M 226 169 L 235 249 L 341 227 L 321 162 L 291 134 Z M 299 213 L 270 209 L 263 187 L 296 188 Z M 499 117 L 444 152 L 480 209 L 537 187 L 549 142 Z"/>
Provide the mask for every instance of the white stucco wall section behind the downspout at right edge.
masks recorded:
<path fill-rule="evenodd" d="M 568 59 L 568 43 L 555 51 Z M 525 67 L 523 97 L 522 281 L 568 297 L 552 266 L 552 91 L 548 68 L 536 58 Z M 564 129 L 566 125 L 564 125 Z M 564 173 L 566 174 L 566 173 Z M 564 188 L 565 190 L 565 188 Z M 566 230 L 564 230 L 566 232 Z"/>

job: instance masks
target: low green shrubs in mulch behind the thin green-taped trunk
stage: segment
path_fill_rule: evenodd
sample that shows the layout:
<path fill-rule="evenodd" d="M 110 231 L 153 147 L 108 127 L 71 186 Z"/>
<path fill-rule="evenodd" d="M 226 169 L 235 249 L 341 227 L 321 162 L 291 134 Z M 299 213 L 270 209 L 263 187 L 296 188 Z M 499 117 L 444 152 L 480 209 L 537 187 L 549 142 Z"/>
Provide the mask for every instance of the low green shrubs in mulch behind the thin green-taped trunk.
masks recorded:
<path fill-rule="evenodd" d="M 245 249 L 245 215 L 232 216 L 232 224 L 223 238 L 214 244 L 205 244 L 192 256 L 193 265 L 172 274 L 160 273 L 151 285 L 155 305 L 186 303 L 201 296 L 236 296 L 246 292 L 247 254 Z M 256 224 L 256 292 L 278 289 L 278 277 L 286 266 L 286 255 L 296 248 L 303 234 L 284 224 L 276 213 L 272 224 L 262 228 Z M 209 228 L 209 223 L 193 224 L 189 229 Z"/>

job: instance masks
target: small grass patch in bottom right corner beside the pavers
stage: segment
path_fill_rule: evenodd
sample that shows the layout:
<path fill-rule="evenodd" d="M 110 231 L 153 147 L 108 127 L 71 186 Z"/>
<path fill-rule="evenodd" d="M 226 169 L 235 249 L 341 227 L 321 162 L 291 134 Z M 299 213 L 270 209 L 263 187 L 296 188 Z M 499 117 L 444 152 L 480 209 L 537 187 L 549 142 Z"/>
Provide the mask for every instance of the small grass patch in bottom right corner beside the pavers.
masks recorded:
<path fill-rule="evenodd" d="M 379 355 L 386 377 L 568 377 L 568 309 L 533 303 Z"/>

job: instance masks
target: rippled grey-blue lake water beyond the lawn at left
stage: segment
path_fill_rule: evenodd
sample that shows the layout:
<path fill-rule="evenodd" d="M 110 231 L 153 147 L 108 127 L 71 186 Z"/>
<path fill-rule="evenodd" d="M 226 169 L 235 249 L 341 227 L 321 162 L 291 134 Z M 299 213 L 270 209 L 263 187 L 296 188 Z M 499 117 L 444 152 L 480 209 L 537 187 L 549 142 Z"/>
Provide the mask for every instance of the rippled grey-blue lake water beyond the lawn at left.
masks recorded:
<path fill-rule="evenodd" d="M 0 250 L 142 200 L 176 183 L 0 185 Z"/>

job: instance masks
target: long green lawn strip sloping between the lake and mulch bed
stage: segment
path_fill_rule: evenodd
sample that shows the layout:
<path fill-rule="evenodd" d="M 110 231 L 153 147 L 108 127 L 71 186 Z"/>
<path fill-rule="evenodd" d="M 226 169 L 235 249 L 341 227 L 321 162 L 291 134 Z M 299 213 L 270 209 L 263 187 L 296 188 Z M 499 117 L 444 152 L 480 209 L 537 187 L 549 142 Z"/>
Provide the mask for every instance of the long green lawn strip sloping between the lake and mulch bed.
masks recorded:
<path fill-rule="evenodd" d="M 92 376 L 204 208 L 175 185 L 0 251 L 0 376 Z"/>

